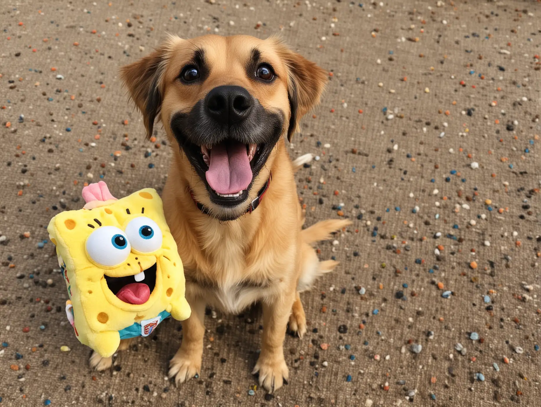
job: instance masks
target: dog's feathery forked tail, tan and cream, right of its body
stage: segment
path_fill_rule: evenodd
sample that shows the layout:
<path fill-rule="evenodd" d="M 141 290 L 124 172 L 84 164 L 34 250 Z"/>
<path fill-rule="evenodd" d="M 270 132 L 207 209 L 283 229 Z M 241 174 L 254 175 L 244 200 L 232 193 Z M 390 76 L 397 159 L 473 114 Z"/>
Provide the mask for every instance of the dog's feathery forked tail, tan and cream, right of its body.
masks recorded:
<path fill-rule="evenodd" d="M 302 274 L 297 284 L 297 291 L 308 290 L 318 277 L 333 271 L 339 264 L 335 260 L 320 262 L 314 249 L 309 245 L 330 239 L 332 232 L 341 230 L 349 224 L 351 221 L 348 219 L 326 219 L 301 231 L 301 238 L 307 244 L 302 248 Z"/>

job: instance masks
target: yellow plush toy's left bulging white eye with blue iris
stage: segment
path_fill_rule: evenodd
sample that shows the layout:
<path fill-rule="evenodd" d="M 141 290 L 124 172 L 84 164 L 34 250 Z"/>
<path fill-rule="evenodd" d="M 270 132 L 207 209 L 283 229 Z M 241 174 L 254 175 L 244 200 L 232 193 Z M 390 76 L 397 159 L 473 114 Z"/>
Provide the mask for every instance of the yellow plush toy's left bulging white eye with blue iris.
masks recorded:
<path fill-rule="evenodd" d="M 122 264 L 131 251 L 126 233 L 115 226 L 100 226 L 93 231 L 87 238 L 86 248 L 94 263 L 105 267 Z"/>

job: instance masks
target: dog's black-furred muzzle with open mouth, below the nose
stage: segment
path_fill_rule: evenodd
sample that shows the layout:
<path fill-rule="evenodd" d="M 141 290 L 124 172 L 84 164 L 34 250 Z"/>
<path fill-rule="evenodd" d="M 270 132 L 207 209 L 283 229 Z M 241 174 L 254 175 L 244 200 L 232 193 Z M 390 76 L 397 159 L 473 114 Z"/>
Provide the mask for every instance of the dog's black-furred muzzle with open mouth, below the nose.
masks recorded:
<path fill-rule="evenodd" d="M 190 112 L 176 112 L 169 124 L 206 186 L 210 202 L 239 213 L 282 135 L 284 122 L 283 111 L 267 111 L 256 98 L 251 103 L 248 116 L 238 117 L 234 104 L 217 112 L 203 98 Z M 195 182 L 190 179 L 190 187 Z M 236 217 L 224 215 L 220 219 L 226 218 Z"/>

